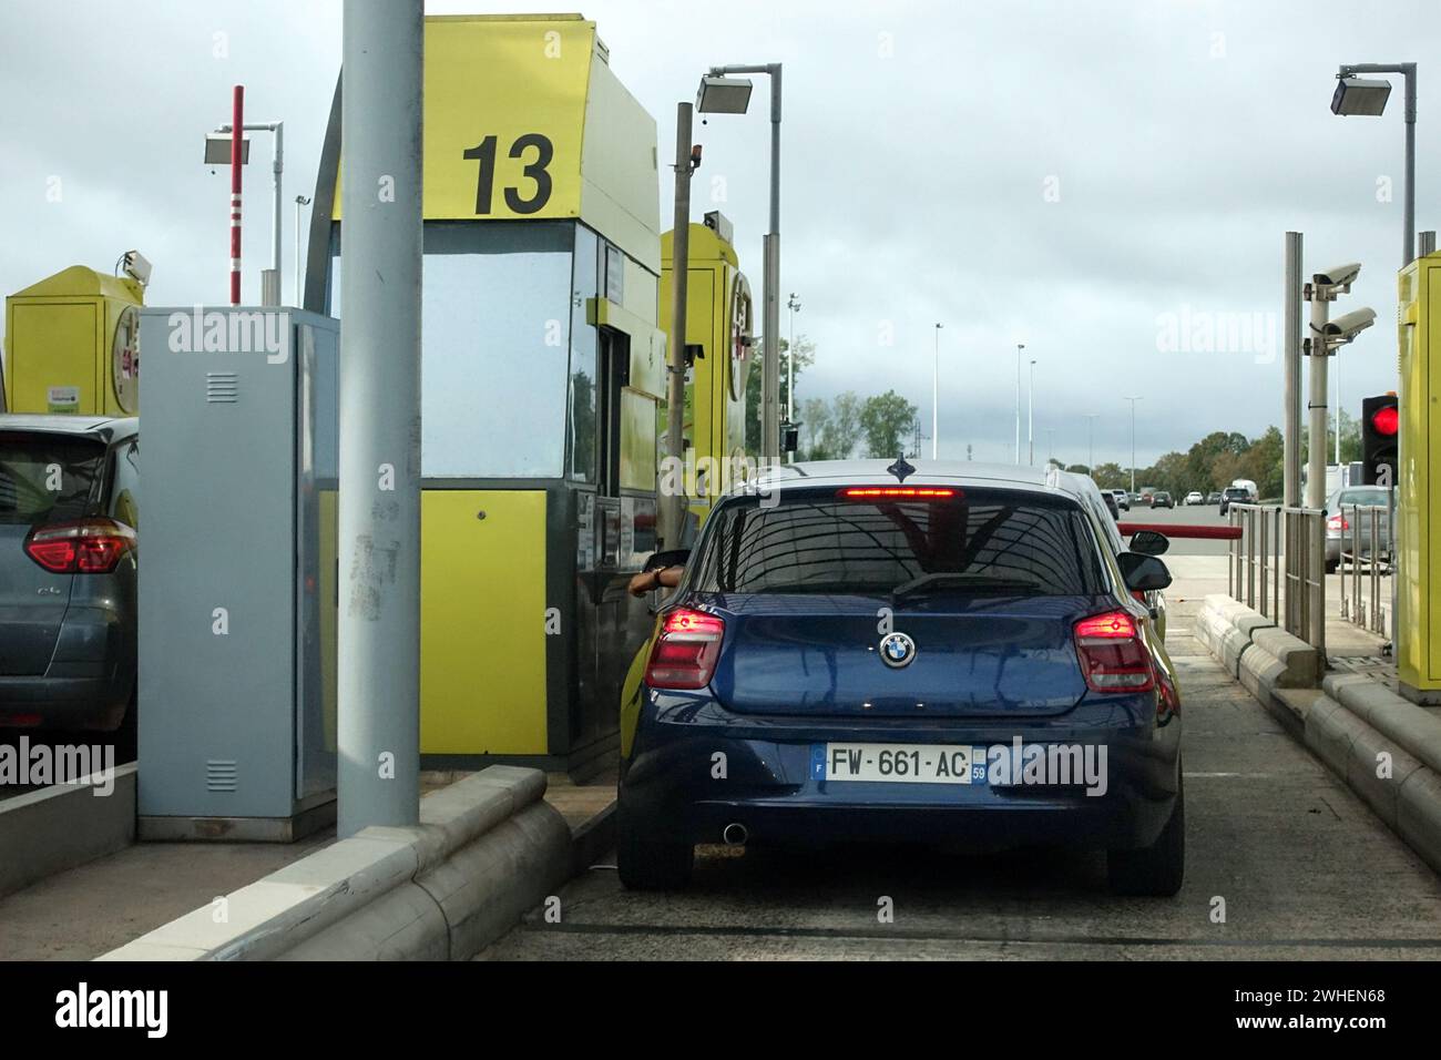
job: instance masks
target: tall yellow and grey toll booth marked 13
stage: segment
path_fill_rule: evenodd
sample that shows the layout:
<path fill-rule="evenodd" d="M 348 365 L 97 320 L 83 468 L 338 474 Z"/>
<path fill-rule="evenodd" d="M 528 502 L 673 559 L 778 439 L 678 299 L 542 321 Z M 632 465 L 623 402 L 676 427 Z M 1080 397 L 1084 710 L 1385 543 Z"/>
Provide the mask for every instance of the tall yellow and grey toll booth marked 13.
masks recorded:
<path fill-rule="evenodd" d="M 422 763 L 584 776 L 651 626 L 656 123 L 574 14 L 428 17 L 424 105 Z M 305 306 L 343 319 L 339 107 Z"/>

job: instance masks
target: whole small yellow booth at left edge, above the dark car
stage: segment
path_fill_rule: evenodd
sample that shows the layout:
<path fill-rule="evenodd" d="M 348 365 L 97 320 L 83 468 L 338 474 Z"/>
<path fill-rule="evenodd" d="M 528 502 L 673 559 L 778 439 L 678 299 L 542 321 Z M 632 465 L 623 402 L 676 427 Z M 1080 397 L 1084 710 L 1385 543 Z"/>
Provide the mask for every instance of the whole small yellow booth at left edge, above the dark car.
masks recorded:
<path fill-rule="evenodd" d="M 0 411 L 135 415 L 144 284 L 71 265 L 4 300 Z"/>

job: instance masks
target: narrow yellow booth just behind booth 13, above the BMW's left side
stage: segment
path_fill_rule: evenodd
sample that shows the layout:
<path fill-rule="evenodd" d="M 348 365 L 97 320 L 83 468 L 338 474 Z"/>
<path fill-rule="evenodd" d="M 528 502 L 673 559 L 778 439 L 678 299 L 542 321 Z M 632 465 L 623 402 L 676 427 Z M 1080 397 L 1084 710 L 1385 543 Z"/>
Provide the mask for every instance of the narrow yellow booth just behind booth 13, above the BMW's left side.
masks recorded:
<path fill-rule="evenodd" d="M 670 335 L 674 232 L 660 239 L 660 319 Z M 715 499 L 749 472 L 745 451 L 745 385 L 759 359 L 754 342 L 751 284 L 732 245 L 723 213 L 690 225 L 686 284 L 684 444 L 690 511 L 705 519 Z M 674 336 L 672 336 L 674 340 Z M 693 472 L 690 469 L 695 469 Z"/>

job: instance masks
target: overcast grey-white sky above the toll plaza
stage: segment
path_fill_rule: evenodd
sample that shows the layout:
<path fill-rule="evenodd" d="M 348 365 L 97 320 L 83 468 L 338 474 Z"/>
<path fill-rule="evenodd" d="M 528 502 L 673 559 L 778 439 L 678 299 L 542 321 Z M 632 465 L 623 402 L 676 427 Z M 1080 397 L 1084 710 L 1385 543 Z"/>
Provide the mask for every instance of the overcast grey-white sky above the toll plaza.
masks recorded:
<path fill-rule="evenodd" d="M 705 68 L 785 63 L 781 299 L 800 296 L 795 330 L 817 346 L 800 398 L 893 388 L 928 425 L 940 322 L 942 456 L 971 444 L 977 460 L 1012 459 L 1017 342 L 1038 361 L 1038 459 L 1053 431 L 1058 457 L 1085 461 L 1095 412 L 1097 461 L 1130 463 L 1127 394 L 1144 398 L 1143 466 L 1212 430 L 1259 434 L 1281 418 L 1287 229 L 1306 234 L 1307 271 L 1365 265 L 1336 307 L 1378 313 L 1342 353 L 1346 408 L 1395 388 L 1399 79 L 1380 118 L 1337 118 L 1329 101 L 1342 62 L 1422 62 L 1417 225 L 1441 226 L 1441 68 L 1424 65 L 1441 45 L 1437 0 L 591 0 L 579 10 L 656 117 L 663 159 L 676 104 L 693 98 Z M 71 264 L 108 271 L 135 247 L 156 265 L 151 304 L 223 303 L 229 182 L 199 153 L 241 82 L 248 120 L 285 121 L 290 299 L 291 202 L 313 192 L 339 65 L 334 0 L 4 0 L 0 290 Z M 725 176 L 728 195 L 712 203 L 712 183 L 699 180 L 695 218 L 716 206 L 732 218 L 759 294 L 768 111 L 757 81 L 751 114 L 696 125 L 702 177 Z M 268 137 L 252 153 L 245 291 L 258 300 Z M 663 169 L 667 226 L 670 196 Z"/>

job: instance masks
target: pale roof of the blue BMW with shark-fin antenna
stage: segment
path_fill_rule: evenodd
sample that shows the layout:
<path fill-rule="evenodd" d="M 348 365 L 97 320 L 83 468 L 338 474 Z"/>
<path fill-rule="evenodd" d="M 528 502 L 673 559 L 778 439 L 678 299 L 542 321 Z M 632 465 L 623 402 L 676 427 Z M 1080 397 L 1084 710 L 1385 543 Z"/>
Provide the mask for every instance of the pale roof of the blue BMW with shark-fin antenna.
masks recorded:
<path fill-rule="evenodd" d="M 754 496 L 759 492 L 784 493 L 811 486 L 895 486 L 898 479 L 886 469 L 895 460 L 804 460 L 762 469 L 754 477 L 731 487 L 732 496 Z M 1071 472 L 1048 472 L 1045 467 L 989 464 L 973 460 L 908 460 L 915 470 L 905 476 L 906 486 L 991 486 L 1063 493 L 1079 499 L 1088 492 L 1084 483 L 1095 483 Z M 1084 480 L 1084 483 L 1082 483 Z M 1099 492 L 1099 490 L 1097 490 Z"/>

